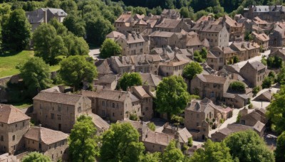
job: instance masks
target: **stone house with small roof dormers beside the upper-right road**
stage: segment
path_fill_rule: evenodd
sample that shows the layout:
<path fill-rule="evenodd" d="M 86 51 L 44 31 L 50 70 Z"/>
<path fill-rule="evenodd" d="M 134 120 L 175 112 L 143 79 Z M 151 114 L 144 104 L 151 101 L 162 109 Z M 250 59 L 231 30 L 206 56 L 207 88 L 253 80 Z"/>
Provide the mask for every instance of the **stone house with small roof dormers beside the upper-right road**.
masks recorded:
<path fill-rule="evenodd" d="M 260 46 L 254 42 L 234 42 L 229 45 L 229 47 L 232 48 L 232 50 L 237 51 L 239 61 L 248 60 L 249 58 L 254 58 L 257 55 L 260 55 Z"/>

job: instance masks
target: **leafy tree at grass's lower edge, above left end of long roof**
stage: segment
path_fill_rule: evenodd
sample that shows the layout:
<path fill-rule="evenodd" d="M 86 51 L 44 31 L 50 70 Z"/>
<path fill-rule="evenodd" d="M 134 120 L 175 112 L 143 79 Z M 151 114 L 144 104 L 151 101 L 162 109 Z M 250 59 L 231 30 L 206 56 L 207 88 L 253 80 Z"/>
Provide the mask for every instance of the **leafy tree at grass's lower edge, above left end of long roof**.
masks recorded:
<path fill-rule="evenodd" d="M 50 87 L 52 83 L 49 66 L 41 58 L 30 58 L 19 70 L 26 87 L 28 87 L 29 95 L 32 97 L 41 90 Z"/>

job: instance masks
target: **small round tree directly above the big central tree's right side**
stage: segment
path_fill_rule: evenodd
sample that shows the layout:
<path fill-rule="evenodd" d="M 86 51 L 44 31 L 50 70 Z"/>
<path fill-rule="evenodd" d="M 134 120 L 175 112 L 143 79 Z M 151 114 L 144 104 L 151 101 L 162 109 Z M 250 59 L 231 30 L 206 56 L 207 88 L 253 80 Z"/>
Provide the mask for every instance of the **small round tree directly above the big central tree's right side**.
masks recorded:
<path fill-rule="evenodd" d="M 182 72 L 182 76 L 191 81 L 195 75 L 200 74 L 202 71 L 202 66 L 199 63 L 193 61 L 185 66 Z"/>

